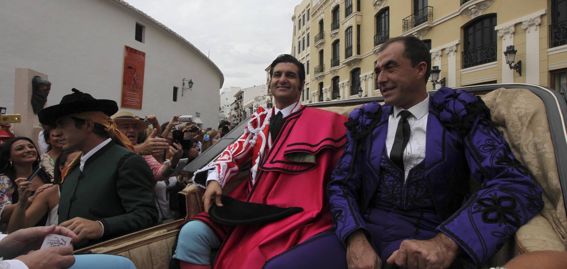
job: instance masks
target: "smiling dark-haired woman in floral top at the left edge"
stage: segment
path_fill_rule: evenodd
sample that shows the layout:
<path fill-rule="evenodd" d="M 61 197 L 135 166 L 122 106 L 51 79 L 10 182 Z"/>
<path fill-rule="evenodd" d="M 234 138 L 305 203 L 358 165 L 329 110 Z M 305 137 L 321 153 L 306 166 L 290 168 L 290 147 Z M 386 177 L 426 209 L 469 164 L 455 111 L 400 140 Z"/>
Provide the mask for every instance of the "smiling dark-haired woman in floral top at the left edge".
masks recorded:
<path fill-rule="evenodd" d="M 33 169 L 39 166 L 39 154 L 36 146 L 27 137 L 14 138 L 0 148 L 0 231 L 6 232 L 7 222 L 14 212 L 16 203 L 19 200 L 16 187 L 20 183 L 26 182 L 27 177 L 32 174 Z M 39 194 L 49 184 L 50 176 L 43 169 L 31 179 L 29 188 L 32 193 L 28 198 L 29 206 L 36 195 Z M 47 215 L 45 215 L 37 225 L 45 225 Z"/>

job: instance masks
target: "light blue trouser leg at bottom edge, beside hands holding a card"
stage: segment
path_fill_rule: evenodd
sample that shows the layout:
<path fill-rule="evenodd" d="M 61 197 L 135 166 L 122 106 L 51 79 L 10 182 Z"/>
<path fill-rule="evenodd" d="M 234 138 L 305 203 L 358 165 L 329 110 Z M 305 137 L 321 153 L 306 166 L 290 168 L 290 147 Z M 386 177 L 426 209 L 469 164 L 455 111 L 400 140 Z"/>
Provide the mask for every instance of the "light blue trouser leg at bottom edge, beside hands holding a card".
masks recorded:
<path fill-rule="evenodd" d="M 136 269 L 132 260 L 119 255 L 81 254 L 75 255 L 75 264 L 69 269 Z"/>

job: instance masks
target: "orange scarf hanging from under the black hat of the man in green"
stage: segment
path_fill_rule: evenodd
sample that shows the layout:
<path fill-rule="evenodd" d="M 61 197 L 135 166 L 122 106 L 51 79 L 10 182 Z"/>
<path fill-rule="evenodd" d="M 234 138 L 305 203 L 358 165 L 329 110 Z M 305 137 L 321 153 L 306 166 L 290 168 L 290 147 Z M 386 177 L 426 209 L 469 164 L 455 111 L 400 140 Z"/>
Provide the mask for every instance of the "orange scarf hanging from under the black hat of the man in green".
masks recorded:
<path fill-rule="evenodd" d="M 95 123 L 103 125 L 104 131 L 107 132 L 108 136 L 110 138 L 112 138 L 112 140 L 115 141 L 116 144 L 119 144 L 121 146 L 124 146 L 124 148 L 128 148 L 128 149 L 134 151 L 134 146 L 132 145 L 132 143 L 130 142 L 128 137 L 126 137 L 124 134 L 122 134 L 120 131 L 118 131 L 118 128 L 116 127 L 115 121 L 113 119 L 110 119 L 103 112 L 101 112 L 101 111 L 87 111 L 87 112 L 82 112 L 82 113 L 77 113 L 77 114 L 71 114 L 69 116 L 77 117 L 78 119 L 83 119 L 83 120 L 91 119 Z M 81 163 L 82 155 L 83 155 L 82 153 L 78 154 L 77 157 L 75 157 L 75 159 L 73 159 L 73 161 L 71 161 L 71 163 L 69 163 L 69 166 L 65 167 L 65 169 L 63 171 L 61 171 L 61 183 L 63 183 L 63 181 L 65 180 L 65 176 L 67 176 L 67 174 L 69 174 L 75 166 L 77 166 L 77 165 L 79 165 L 79 163 Z"/>

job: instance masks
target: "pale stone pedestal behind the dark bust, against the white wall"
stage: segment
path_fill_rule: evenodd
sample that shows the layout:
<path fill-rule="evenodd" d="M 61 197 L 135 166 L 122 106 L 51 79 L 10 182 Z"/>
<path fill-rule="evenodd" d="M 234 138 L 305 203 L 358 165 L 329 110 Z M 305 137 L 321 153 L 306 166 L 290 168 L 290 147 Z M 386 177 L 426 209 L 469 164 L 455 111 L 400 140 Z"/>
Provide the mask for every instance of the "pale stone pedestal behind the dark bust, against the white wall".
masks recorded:
<path fill-rule="evenodd" d="M 39 75 L 47 79 L 46 74 L 39 73 L 29 68 L 16 68 L 14 83 L 14 114 L 22 115 L 22 123 L 13 123 L 14 132 L 17 136 L 25 136 L 37 144 L 37 136 L 41 132 L 41 125 L 37 115 L 33 114 L 32 104 L 32 78 Z"/>

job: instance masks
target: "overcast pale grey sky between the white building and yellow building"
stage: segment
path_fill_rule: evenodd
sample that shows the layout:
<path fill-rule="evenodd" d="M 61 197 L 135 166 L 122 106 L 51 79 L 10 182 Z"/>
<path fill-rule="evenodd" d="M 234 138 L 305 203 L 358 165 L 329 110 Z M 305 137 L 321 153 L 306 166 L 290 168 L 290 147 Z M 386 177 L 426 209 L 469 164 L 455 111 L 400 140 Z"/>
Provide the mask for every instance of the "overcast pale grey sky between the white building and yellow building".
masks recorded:
<path fill-rule="evenodd" d="M 300 0 L 126 0 L 208 54 L 225 74 L 223 88 L 265 83 L 264 69 L 291 52 Z"/>

